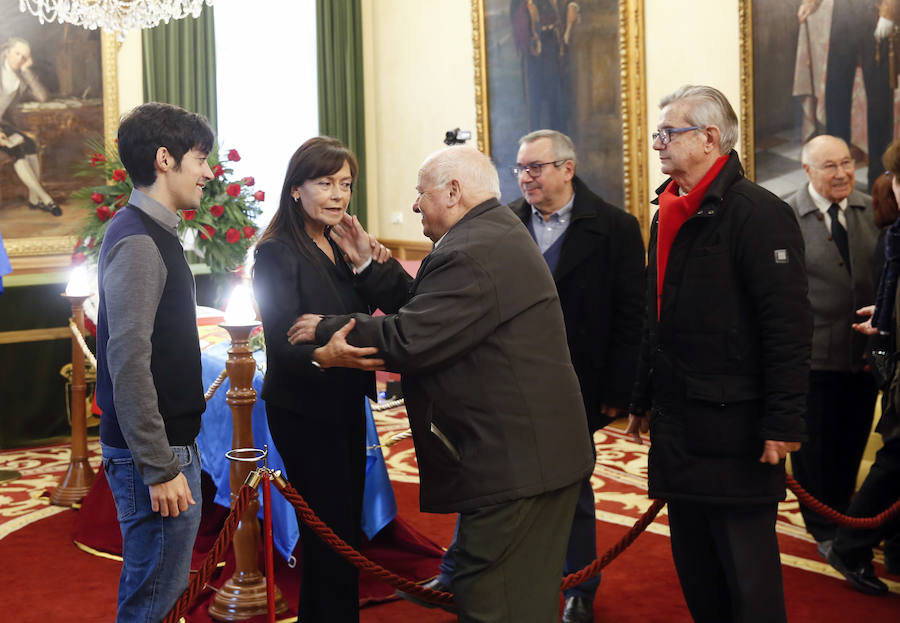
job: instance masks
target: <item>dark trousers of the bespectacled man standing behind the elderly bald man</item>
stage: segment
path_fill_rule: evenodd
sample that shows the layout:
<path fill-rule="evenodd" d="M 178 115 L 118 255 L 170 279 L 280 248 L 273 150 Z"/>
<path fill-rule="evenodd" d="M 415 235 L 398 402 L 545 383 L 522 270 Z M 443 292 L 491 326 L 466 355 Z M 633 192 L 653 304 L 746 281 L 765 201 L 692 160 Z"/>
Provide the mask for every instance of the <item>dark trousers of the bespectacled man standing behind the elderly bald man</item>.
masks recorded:
<path fill-rule="evenodd" d="M 454 558 L 454 546 L 459 534 L 459 517 L 456 519 L 456 529 L 453 532 L 453 541 L 447 547 L 447 552 L 441 558 L 440 574 L 438 579 L 444 586 L 453 583 L 453 574 L 456 571 Z M 569 533 L 569 544 L 566 547 L 566 561 L 563 566 L 563 575 L 569 575 L 580 571 L 597 558 L 597 518 L 594 506 L 594 488 L 591 486 L 591 477 L 581 481 L 578 490 L 578 501 L 575 503 L 575 517 L 572 519 L 572 531 Z M 566 597 L 583 597 L 588 601 L 594 601 L 594 594 L 600 586 L 600 573 L 565 591 Z"/>

